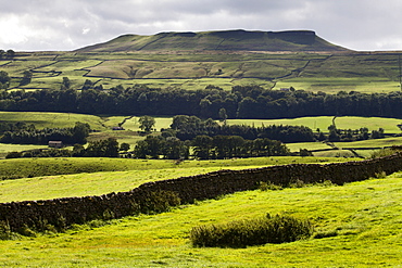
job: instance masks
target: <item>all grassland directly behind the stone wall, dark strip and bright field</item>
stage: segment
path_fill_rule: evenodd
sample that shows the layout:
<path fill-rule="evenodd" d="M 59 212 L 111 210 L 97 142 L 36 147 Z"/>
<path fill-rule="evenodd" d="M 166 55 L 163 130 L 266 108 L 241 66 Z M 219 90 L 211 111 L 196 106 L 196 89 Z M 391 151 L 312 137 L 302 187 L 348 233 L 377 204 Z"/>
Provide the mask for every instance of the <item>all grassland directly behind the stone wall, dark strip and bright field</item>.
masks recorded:
<path fill-rule="evenodd" d="M 344 162 L 329 157 L 261 157 L 228 161 L 142 161 L 125 158 L 35 158 L 0 161 L 0 174 L 35 178 L 0 181 L 0 202 L 49 200 L 124 192 L 149 181 L 221 169 L 246 169 L 294 163 Z M 63 174 L 54 176 L 58 174 Z M 76 173 L 74 175 L 65 175 Z M 4 175 L 5 174 L 5 175 Z M 39 175 L 42 174 L 42 175 Z M 45 176 L 48 175 L 48 176 Z M 53 175 L 53 176 L 50 176 Z M 28 177 L 28 176 L 23 176 Z"/>

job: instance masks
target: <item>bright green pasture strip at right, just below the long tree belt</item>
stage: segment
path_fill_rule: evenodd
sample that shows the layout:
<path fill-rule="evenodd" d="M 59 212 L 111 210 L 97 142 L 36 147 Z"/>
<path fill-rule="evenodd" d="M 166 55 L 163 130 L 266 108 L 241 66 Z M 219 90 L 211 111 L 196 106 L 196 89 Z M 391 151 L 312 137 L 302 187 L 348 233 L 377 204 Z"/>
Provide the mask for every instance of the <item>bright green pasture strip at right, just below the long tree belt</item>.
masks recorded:
<path fill-rule="evenodd" d="M 227 119 L 229 125 L 254 125 L 255 127 L 269 125 L 291 125 L 306 126 L 313 131 L 319 128 L 323 132 L 328 132 L 328 127 L 332 125 L 334 116 L 316 116 L 316 117 L 298 117 L 289 119 Z M 360 129 L 366 127 L 372 130 L 384 128 L 385 133 L 401 133 L 401 129 L 397 126 L 402 120 L 398 118 L 382 117 L 359 117 L 359 116 L 339 116 L 335 119 L 335 124 L 339 129 Z"/>

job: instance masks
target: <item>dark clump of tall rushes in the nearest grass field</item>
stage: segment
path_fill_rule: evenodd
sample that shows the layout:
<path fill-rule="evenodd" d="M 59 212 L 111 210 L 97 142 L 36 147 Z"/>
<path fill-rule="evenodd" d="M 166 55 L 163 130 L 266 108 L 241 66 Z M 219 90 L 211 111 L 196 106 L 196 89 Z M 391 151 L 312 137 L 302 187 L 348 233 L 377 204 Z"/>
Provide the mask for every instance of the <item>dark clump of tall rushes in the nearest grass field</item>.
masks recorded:
<path fill-rule="evenodd" d="M 276 215 L 221 225 L 193 227 L 190 240 L 193 246 L 246 247 L 266 243 L 286 243 L 310 238 L 313 225 L 310 220 L 289 215 Z"/>

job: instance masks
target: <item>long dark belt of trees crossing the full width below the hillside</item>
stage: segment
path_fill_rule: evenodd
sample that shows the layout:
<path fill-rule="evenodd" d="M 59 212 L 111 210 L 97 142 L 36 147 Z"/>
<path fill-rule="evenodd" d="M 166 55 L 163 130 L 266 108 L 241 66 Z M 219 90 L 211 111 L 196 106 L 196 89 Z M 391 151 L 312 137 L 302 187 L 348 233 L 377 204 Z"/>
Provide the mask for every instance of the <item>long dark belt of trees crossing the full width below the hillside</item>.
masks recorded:
<path fill-rule="evenodd" d="M 226 91 L 149 88 L 76 90 L 63 79 L 60 90 L 1 91 L 1 111 L 72 112 L 116 115 L 196 115 L 202 118 L 294 118 L 302 116 L 379 116 L 402 118 L 402 92 L 336 94 L 236 86 Z M 68 87 L 66 87 L 68 86 Z M 88 86 L 88 85 L 87 85 Z"/>

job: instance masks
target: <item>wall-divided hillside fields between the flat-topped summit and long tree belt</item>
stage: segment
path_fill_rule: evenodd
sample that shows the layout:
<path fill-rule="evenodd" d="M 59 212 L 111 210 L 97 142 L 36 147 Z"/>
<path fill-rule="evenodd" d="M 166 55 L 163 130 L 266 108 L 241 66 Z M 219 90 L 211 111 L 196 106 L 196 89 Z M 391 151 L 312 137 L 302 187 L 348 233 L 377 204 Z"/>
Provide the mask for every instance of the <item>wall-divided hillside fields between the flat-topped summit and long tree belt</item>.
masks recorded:
<path fill-rule="evenodd" d="M 328 54 L 328 53 L 25 53 L 0 66 L 15 79 L 33 69 L 29 85 L 22 88 L 59 89 L 68 77 L 73 88 L 86 79 L 111 88 L 143 84 L 150 87 L 179 87 L 189 90 L 215 85 L 230 90 L 237 85 L 260 85 L 264 88 L 304 89 L 309 91 L 390 92 L 400 90 L 398 55 Z"/>

